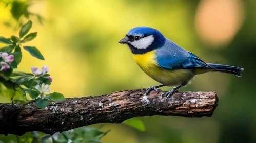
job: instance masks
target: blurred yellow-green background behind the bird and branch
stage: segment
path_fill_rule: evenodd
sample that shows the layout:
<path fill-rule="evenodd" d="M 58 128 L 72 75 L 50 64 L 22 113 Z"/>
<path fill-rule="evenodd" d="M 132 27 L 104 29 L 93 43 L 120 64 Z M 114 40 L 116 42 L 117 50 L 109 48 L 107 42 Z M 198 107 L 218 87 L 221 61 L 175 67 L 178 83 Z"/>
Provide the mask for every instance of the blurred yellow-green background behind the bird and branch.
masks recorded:
<path fill-rule="evenodd" d="M 18 34 L 11 7 L 0 1 L 0 35 Z M 216 91 L 219 104 L 212 117 L 140 117 L 146 131 L 107 124 L 103 142 L 256 142 L 254 104 L 256 1 L 21 1 L 36 15 L 31 32 L 45 61 L 23 53 L 18 70 L 47 65 L 51 91 L 70 97 L 158 85 L 136 65 L 127 46 L 117 44 L 134 27 L 148 26 L 198 55 L 207 63 L 245 68 L 243 77 L 207 73 L 180 91 Z M 22 8 L 21 8 L 22 9 Z M 22 16 L 19 22 L 25 23 Z M 4 45 L 0 44 L 0 47 Z M 168 87 L 162 90 L 170 90 Z M 0 102 L 10 102 L 1 95 Z"/>

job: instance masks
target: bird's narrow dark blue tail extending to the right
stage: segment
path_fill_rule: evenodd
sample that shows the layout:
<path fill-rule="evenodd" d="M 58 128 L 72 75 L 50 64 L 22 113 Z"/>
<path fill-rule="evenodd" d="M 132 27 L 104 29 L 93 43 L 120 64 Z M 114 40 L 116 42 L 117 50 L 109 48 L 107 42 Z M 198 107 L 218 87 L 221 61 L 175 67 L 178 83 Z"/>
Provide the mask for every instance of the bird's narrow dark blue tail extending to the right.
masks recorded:
<path fill-rule="evenodd" d="M 209 66 L 216 68 L 216 71 L 219 71 L 221 73 L 228 73 L 232 74 L 238 77 L 241 77 L 240 71 L 243 71 L 244 68 L 230 66 L 230 65 L 222 65 L 222 64 L 213 64 L 213 63 L 207 63 Z"/>

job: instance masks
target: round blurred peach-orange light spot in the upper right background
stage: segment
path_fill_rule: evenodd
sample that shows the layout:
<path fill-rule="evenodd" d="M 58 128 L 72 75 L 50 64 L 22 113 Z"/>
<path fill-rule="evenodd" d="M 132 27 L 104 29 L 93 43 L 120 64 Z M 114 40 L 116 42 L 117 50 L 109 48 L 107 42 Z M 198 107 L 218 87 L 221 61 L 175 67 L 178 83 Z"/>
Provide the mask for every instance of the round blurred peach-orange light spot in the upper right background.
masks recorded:
<path fill-rule="evenodd" d="M 195 15 L 195 27 L 200 38 L 213 47 L 228 44 L 245 19 L 243 1 L 200 1 Z"/>

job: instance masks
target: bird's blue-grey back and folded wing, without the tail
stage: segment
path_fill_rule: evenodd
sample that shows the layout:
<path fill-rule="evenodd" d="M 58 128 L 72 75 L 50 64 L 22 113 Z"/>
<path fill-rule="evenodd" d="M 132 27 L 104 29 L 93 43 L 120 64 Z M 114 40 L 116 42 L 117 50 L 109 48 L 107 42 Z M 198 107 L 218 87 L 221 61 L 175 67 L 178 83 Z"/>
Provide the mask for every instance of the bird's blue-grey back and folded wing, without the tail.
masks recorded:
<path fill-rule="evenodd" d="M 156 50 L 157 64 L 165 69 L 212 68 L 194 54 L 166 39 L 163 47 Z"/>

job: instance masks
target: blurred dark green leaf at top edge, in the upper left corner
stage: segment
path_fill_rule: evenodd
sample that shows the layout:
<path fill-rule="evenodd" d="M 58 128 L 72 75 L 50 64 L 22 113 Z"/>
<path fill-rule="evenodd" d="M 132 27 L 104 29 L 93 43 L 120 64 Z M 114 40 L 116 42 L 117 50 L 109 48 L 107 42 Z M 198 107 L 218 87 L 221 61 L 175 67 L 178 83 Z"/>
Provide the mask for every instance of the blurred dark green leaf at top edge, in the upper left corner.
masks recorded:
<path fill-rule="evenodd" d="M 17 21 L 26 12 L 28 4 L 26 1 L 13 1 L 11 7 L 11 14 Z"/>

